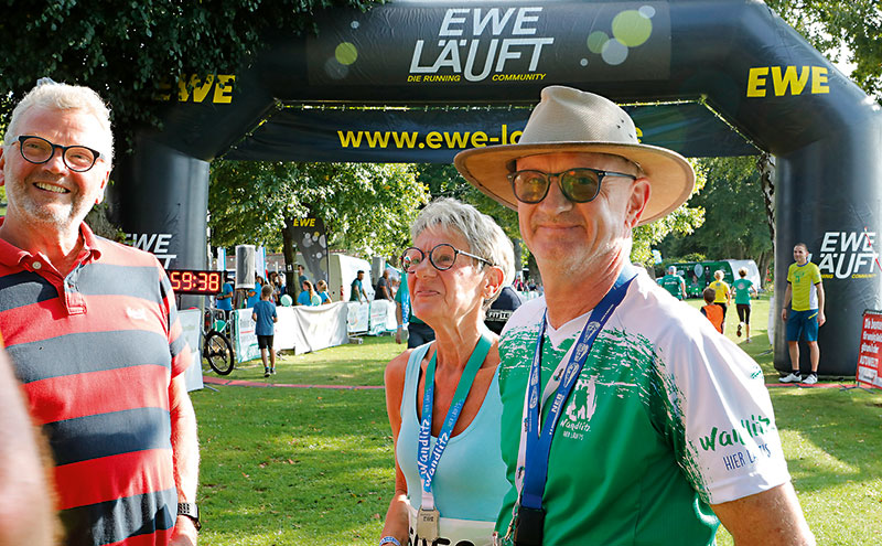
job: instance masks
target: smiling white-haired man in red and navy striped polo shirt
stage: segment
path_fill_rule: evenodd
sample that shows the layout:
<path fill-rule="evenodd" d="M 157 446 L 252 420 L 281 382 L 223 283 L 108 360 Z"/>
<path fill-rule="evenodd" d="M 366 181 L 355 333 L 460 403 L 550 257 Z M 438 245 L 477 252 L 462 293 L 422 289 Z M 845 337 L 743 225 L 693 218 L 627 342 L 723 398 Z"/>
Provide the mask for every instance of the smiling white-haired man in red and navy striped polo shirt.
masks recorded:
<path fill-rule="evenodd" d="M 153 255 L 84 222 L 112 144 L 88 87 L 37 85 L 15 106 L 0 148 L 0 331 L 52 449 L 58 544 L 192 546 L 198 439 L 174 293 Z"/>

